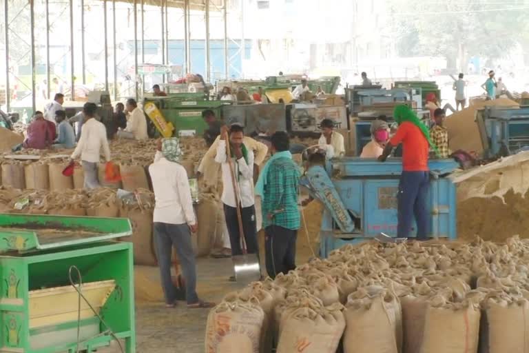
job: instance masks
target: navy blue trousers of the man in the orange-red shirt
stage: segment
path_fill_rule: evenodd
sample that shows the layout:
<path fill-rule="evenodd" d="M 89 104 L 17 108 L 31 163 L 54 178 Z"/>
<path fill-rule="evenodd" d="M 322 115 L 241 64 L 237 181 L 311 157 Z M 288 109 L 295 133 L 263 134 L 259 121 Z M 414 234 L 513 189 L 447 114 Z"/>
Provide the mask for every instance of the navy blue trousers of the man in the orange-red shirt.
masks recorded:
<path fill-rule="evenodd" d="M 417 223 L 417 239 L 428 239 L 428 188 L 430 175 L 428 172 L 402 172 L 398 194 L 398 225 L 397 237 L 410 236 L 413 216 Z"/>

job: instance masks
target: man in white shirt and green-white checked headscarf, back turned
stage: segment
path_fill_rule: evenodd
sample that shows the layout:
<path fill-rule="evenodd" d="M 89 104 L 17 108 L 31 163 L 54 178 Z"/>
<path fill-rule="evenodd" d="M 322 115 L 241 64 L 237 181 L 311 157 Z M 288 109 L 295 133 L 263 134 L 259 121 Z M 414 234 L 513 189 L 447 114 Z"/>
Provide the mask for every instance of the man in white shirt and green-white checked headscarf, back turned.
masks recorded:
<path fill-rule="evenodd" d="M 191 232 L 198 230 L 193 210 L 191 189 L 185 168 L 178 163 L 182 151 L 177 138 L 158 141 L 158 152 L 149 166 L 156 197 L 154 237 L 165 304 L 174 307 L 176 288 L 171 278 L 172 248 L 178 253 L 185 279 L 187 307 L 212 307 L 196 294 L 196 264 L 191 245 Z"/>

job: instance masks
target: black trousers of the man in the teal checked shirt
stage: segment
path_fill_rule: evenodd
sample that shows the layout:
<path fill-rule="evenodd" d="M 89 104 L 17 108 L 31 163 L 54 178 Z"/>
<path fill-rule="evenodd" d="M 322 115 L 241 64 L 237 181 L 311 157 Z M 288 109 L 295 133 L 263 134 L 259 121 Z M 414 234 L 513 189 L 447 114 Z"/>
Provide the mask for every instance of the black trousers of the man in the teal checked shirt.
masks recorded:
<path fill-rule="evenodd" d="M 295 240 L 297 230 L 289 230 L 279 225 L 264 228 L 266 235 L 264 249 L 268 275 L 275 279 L 277 274 L 287 274 L 295 269 Z"/>

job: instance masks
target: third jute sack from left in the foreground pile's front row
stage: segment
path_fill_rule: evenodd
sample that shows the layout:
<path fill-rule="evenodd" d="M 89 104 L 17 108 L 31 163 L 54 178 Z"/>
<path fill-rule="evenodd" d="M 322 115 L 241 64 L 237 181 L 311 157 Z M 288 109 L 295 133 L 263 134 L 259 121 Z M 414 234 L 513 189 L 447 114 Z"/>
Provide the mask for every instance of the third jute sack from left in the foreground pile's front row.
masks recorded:
<path fill-rule="evenodd" d="M 402 352 L 402 312 L 397 297 L 378 286 L 349 295 L 344 333 L 345 353 Z"/>

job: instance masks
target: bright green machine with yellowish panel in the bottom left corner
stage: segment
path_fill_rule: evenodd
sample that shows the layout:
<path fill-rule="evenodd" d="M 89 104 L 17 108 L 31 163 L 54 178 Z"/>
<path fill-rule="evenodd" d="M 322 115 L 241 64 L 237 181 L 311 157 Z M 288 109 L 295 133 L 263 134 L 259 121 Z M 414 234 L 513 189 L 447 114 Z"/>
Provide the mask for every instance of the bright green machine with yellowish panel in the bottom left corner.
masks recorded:
<path fill-rule="evenodd" d="M 134 353 L 132 243 L 113 241 L 130 234 L 128 219 L 0 214 L 0 352 Z"/>

